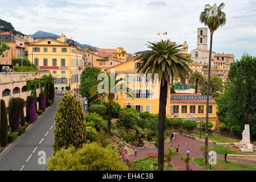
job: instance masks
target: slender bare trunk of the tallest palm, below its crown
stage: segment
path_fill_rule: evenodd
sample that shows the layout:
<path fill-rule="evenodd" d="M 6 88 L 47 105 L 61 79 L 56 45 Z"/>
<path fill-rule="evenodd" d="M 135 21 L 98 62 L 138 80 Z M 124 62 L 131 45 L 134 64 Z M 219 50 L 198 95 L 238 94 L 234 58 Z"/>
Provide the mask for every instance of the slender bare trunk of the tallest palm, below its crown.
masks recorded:
<path fill-rule="evenodd" d="M 206 113 L 206 118 L 205 118 L 205 147 L 204 147 L 204 152 L 205 152 L 205 166 L 207 166 L 208 162 L 208 122 L 209 122 L 209 94 L 210 94 L 210 62 L 212 60 L 212 38 L 213 38 L 213 33 L 210 33 L 210 53 L 209 53 L 209 65 L 208 65 L 208 82 L 207 82 L 207 113 Z"/>

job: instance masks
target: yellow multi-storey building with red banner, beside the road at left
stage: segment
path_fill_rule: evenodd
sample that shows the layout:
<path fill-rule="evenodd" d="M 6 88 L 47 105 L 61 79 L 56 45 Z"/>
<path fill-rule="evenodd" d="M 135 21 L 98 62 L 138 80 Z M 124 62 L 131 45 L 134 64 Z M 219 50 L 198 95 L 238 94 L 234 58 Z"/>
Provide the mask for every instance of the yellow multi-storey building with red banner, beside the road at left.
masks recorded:
<path fill-rule="evenodd" d="M 36 67 L 51 72 L 59 90 L 65 86 L 70 86 L 72 92 L 79 88 L 85 63 L 82 49 L 72 41 L 67 42 L 64 35 L 57 40 L 47 38 L 28 44 L 27 51 L 28 59 Z"/>

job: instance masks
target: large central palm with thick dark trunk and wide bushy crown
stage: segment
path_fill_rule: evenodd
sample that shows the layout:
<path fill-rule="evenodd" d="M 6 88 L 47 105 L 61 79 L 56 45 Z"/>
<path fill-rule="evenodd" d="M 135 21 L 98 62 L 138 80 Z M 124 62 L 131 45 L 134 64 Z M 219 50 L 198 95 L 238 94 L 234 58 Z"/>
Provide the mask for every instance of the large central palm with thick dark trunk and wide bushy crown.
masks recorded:
<path fill-rule="evenodd" d="M 152 74 L 152 81 L 155 74 L 158 74 L 160 82 L 159 96 L 159 118 L 158 118 L 158 170 L 163 171 L 164 167 L 164 122 L 166 120 L 167 92 L 170 87 L 171 77 L 185 78 L 191 69 L 188 64 L 192 60 L 183 55 L 181 45 L 170 42 L 170 40 L 160 40 L 160 42 L 150 43 L 148 51 L 144 55 L 138 56 L 134 61 L 138 61 L 137 73 Z"/>

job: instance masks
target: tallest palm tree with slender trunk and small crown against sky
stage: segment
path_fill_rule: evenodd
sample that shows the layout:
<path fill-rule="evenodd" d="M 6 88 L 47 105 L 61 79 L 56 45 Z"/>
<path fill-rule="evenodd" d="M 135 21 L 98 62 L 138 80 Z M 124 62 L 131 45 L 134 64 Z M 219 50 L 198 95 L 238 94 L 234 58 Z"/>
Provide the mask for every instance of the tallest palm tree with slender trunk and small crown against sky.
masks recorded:
<path fill-rule="evenodd" d="M 208 82 L 207 82 L 207 113 L 205 121 L 205 165 L 207 166 L 208 159 L 208 107 L 209 107 L 209 90 L 210 90 L 210 61 L 212 58 L 212 39 L 213 32 L 220 26 L 224 26 L 226 23 L 226 14 L 221 10 L 224 8 L 225 4 L 221 3 L 217 7 L 216 3 L 213 6 L 205 5 L 204 11 L 200 14 L 200 22 L 208 26 L 210 30 L 210 52 L 209 52 L 209 63 L 208 63 Z"/>

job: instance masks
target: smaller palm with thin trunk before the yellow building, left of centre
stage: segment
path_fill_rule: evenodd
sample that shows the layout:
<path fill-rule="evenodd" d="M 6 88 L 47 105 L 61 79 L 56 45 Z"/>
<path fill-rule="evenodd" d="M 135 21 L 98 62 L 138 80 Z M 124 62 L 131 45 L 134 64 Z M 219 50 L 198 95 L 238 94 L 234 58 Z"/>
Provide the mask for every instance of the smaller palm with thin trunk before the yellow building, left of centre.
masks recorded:
<path fill-rule="evenodd" d="M 129 97 L 133 98 L 133 93 L 129 89 L 129 87 L 126 86 L 125 82 L 122 82 L 123 78 L 119 77 L 117 73 L 101 73 L 103 74 L 103 78 L 106 81 L 106 85 L 104 85 L 104 90 L 102 93 L 98 93 L 98 85 L 94 85 L 90 89 L 90 98 L 98 95 L 101 96 L 101 101 L 108 101 L 109 107 L 108 107 L 108 135 L 111 137 L 111 113 L 112 113 L 112 106 L 115 99 L 115 96 L 117 96 L 118 99 L 118 93 L 126 93 Z M 113 81 L 113 83 L 112 83 Z M 101 84 L 101 83 L 100 83 Z M 99 84 L 99 85 L 100 85 Z"/>

